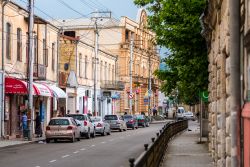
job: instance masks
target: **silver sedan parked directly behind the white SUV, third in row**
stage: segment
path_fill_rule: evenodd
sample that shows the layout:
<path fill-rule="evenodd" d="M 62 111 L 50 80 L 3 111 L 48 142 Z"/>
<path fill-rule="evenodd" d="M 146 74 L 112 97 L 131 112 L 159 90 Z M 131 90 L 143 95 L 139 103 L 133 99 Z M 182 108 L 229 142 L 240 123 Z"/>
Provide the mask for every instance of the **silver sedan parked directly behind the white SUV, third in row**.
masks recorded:
<path fill-rule="evenodd" d="M 102 136 L 110 135 L 111 129 L 110 125 L 107 122 L 104 122 L 101 117 L 91 117 L 95 125 L 95 132 L 101 134 Z"/>

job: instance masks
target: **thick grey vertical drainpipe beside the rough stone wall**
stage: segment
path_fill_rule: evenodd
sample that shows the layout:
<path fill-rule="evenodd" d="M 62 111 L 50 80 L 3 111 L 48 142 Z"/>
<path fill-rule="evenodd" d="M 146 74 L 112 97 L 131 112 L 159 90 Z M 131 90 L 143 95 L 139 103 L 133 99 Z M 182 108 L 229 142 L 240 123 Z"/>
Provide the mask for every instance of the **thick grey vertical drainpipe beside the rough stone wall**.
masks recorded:
<path fill-rule="evenodd" d="M 240 166 L 240 1 L 229 0 L 231 166 Z"/>

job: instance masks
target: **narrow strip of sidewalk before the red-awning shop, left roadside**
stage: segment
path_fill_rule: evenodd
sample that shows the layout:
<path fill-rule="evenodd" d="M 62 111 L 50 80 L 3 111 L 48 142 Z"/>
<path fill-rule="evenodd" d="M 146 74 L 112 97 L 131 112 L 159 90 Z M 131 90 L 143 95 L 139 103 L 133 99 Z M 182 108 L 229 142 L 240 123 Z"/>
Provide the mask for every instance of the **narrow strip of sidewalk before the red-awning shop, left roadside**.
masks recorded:
<path fill-rule="evenodd" d="M 17 145 L 24 145 L 28 143 L 42 142 L 44 140 L 45 140 L 44 137 L 33 138 L 32 141 L 24 140 L 23 138 L 11 139 L 11 140 L 0 140 L 0 149 L 6 148 L 6 147 L 17 146 Z"/>

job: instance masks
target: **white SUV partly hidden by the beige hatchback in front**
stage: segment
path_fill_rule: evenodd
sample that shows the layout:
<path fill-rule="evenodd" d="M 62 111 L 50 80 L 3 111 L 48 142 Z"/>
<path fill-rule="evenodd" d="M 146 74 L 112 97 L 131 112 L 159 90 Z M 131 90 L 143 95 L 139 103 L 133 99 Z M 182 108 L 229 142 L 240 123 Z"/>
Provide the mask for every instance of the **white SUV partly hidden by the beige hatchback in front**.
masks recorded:
<path fill-rule="evenodd" d="M 85 136 L 87 139 L 95 137 L 95 126 L 92 124 L 92 121 L 87 114 L 68 114 L 67 116 L 77 119 L 83 123 L 84 128 L 81 132 L 82 137 Z"/>

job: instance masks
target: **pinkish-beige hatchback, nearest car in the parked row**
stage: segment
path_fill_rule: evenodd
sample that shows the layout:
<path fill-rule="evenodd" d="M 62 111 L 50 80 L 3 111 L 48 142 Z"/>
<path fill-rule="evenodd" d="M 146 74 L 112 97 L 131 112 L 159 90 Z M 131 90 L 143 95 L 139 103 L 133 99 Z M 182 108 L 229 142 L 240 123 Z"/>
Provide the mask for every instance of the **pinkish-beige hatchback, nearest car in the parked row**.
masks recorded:
<path fill-rule="evenodd" d="M 69 139 L 74 142 L 76 139 L 80 141 L 80 125 L 70 117 L 52 118 L 45 131 L 46 142 L 50 140 L 55 142 L 58 139 Z"/>

